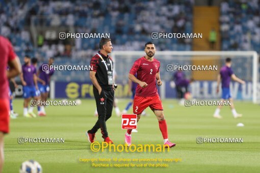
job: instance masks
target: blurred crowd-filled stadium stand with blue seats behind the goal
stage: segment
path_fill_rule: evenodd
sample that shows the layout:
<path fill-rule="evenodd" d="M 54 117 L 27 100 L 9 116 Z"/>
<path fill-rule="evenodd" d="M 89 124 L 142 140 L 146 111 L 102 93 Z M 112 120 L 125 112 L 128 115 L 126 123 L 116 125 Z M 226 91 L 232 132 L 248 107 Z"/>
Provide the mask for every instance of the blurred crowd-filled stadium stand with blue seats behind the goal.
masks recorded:
<path fill-rule="evenodd" d="M 102 5 L 101 5 L 102 4 Z M 225 1 L 220 5 L 221 50 L 260 49 L 260 2 Z M 37 57 L 40 62 L 55 57 L 59 64 L 89 64 L 98 49 L 99 39 L 74 39 L 41 43 L 34 41 L 42 36 L 32 26 L 73 28 L 75 33 L 110 33 L 114 50 L 143 50 L 153 32 L 192 33 L 193 0 L 174 1 L 1 1 L 1 35 L 9 38 L 18 56 Z M 73 6 L 74 8 L 70 8 Z M 158 8 L 160 7 L 160 8 Z M 105 15 L 106 14 L 106 15 Z M 246 21 L 246 22 L 245 22 Z M 242 35 L 242 37 L 241 37 Z M 157 50 L 192 50 L 191 39 L 153 40 Z M 238 63 L 238 75 L 243 73 L 244 60 Z M 162 62 L 164 64 L 164 62 Z M 85 81 L 86 75 L 57 71 L 55 80 Z M 250 74 L 247 74 L 247 76 Z"/>

